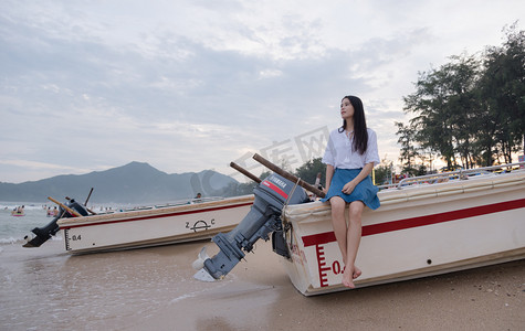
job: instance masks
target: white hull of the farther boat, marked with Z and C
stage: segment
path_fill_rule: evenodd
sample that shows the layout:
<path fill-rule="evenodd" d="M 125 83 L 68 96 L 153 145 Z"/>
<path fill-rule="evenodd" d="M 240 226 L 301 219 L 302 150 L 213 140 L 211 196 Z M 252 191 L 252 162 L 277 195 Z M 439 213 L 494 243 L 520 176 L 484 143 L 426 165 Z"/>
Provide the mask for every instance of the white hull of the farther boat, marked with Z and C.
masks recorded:
<path fill-rule="evenodd" d="M 250 212 L 253 195 L 151 210 L 61 218 L 69 253 L 94 253 L 211 238 Z"/>

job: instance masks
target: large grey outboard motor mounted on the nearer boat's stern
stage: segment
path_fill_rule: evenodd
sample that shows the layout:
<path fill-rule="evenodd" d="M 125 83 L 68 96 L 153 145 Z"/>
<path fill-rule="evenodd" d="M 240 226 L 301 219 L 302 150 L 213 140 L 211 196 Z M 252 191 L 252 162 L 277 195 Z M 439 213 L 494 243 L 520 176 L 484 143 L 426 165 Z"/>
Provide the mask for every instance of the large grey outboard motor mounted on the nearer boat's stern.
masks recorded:
<path fill-rule="evenodd" d="M 221 250 L 212 258 L 206 256 L 206 247 L 199 254 L 199 259 L 193 263 L 193 267 L 200 269 L 195 275 L 197 279 L 213 280 L 224 277 L 245 256 L 244 252 L 251 252 L 259 238 L 267 241 L 271 232 L 274 232 L 274 241 L 281 238 L 283 242 L 282 235 L 276 236 L 275 233 L 282 234 L 281 211 L 284 205 L 309 202 L 303 188 L 275 173 L 255 186 L 253 193 L 253 206 L 241 223 L 231 232 L 219 233 L 212 238 Z M 283 245 L 281 243 L 277 246 Z"/>

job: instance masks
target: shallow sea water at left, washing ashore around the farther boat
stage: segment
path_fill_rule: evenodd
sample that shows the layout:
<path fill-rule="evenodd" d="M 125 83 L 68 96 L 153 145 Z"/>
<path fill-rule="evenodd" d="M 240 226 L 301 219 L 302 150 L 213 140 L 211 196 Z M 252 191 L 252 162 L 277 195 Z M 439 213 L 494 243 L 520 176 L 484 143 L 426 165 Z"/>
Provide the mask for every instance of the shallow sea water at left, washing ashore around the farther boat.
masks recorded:
<path fill-rule="evenodd" d="M 202 242 L 75 256 L 59 233 L 41 247 L 22 247 L 23 237 L 52 217 L 36 203 L 24 204 L 24 216 L 11 216 L 17 205 L 0 209 L 2 330 L 134 329 L 218 286 L 192 278 Z"/>

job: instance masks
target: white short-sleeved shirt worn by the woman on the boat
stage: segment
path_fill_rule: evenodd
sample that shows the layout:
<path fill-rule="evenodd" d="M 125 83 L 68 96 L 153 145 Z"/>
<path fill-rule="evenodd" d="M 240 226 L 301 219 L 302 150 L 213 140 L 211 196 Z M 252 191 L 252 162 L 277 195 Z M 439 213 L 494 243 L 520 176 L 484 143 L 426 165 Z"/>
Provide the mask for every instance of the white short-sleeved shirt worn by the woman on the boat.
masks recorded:
<path fill-rule="evenodd" d="M 380 162 L 377 136 L 372 129 L 367 129 L 367 150 L 360 154 L 357 150 L 353 149 L 354 135 L 348 138 L 344 130 L 343 132 L 339 132 L 339 129 L 333 130 L 322 162 L 339 169 L 360 169 L 370 162 L 374 162 L 375 167 Z"/>

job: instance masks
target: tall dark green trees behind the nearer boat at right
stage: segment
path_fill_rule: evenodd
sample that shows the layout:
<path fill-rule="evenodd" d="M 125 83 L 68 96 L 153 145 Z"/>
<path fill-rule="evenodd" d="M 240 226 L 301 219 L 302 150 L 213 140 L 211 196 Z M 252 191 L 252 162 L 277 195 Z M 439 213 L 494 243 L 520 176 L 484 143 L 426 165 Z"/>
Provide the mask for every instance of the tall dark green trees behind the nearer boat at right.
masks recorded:
<path fill-rule="evenodd" d="M 412 118 L 395 122 L 403 172 L 435 158 L 451 169 L 512 163 L 525 149 L 525 31 L 514 23 L 503 32 L 501 46 L 419 73 L 403 97 Z"/>

